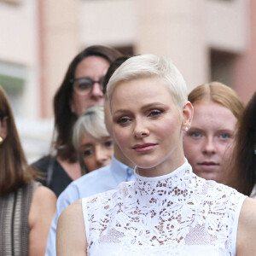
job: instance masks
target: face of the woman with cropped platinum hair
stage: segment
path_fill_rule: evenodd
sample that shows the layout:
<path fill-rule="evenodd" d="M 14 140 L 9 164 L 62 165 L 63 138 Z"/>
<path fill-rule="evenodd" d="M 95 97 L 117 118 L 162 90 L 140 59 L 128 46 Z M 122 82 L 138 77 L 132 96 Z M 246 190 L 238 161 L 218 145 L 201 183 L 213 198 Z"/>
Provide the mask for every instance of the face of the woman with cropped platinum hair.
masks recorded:
<path fill-rule="evenodd" d="M 160 79 L 136 79 L 119 84 L 111 102 L 113 136 L 127 158 L 144 172 L 167 164 L 183 164 L 182 114 Z M 144 173 L 143 173 L 144 172 Z M 162 173 L 161 173 L 162 174 Z M 163 175 L 163 174 L 162 174 Z"/>

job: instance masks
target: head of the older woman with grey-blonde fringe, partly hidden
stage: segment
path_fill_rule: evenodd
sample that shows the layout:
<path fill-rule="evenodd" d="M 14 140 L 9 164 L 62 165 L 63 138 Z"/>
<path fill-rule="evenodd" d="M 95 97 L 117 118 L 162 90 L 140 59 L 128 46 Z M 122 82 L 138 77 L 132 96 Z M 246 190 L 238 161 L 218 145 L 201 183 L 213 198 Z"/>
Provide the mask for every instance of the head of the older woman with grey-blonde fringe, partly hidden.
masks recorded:
<path fill-rule="evenodd" d="M 104 122 L 103 106 L 88 108 L 73 127 L 73 145 L 83 173 L 108 166 L 113 154 L 113 140 Z"/>

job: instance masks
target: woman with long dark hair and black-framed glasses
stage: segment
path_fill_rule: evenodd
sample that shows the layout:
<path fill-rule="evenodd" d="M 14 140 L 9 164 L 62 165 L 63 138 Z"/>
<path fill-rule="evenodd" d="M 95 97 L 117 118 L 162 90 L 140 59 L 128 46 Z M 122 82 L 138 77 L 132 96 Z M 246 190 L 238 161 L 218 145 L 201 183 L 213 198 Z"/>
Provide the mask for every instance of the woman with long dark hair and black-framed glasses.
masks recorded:
<path fill-rule="evenodd" d="M 73 148 L 73 125 L 87 108 L 103 104 L 102 81 L 108 67 L 121 54 L 116 49 L 93 45 L 70 63 L 54 97 L 55 137 L 51 153 L 32 166 L 45 173 L 41 183 L 60 195 L 69 183 L 81 176 Z"/>

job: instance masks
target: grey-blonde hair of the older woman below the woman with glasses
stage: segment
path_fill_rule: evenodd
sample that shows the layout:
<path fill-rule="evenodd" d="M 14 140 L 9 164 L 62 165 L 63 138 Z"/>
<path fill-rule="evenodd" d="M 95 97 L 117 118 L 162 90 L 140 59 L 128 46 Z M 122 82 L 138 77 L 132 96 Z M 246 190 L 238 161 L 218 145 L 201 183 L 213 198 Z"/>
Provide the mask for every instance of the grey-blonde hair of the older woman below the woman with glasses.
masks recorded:
<path fill-rule="evenodd" d="M 109 137 L 104 122 L 103 106 L 87 108 L 84 114 L 77 119 L 73 126 L 73 146 L 77 151 L 79 151 L 84 131 L 96 140 Z"/>

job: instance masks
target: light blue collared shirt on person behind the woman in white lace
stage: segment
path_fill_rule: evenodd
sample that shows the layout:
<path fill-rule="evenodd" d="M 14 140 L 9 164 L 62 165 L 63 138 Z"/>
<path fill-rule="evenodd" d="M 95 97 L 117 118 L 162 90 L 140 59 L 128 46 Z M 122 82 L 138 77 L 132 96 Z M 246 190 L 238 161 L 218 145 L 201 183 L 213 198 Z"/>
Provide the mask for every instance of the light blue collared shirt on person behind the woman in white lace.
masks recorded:
<path fill-rule="evenodd" d="M 56 255 L 56 228 L 61 212 L 74 201 L 90 195 L 96 195 L 110 189 L 116 189 L 121 182 L 135 180 L 134 171 L 119 160 L 112 158 L 109 166 L 90 172 L 70 183 L 58 197 L 55 217 L 53 218 L 46 247 L 46 256 Z"/>

